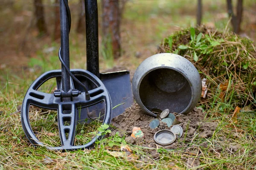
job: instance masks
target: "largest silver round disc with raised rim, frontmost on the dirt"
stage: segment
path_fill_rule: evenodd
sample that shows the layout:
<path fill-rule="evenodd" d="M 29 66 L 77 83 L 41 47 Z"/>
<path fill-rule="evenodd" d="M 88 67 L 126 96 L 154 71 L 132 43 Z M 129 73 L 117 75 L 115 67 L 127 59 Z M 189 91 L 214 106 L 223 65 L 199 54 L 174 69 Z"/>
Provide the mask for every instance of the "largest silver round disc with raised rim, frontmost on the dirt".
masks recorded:
<path fill-rule="evenodd" d="M 176 136 L 171 130 L 163 129 L 154 134 L 154 141 L 160 145 L 169 145 L 175 142 Z"/>

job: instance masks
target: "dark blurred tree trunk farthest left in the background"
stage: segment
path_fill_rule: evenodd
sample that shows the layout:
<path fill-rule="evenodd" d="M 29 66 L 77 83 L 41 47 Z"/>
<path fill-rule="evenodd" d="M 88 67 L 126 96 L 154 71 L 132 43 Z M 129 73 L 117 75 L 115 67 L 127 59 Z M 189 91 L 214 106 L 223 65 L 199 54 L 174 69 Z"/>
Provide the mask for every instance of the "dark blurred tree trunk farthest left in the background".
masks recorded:
<path fill-rule="evenodd" d="M 44 6 L 42 0 L 34 0 L 35 6 L 35 18 L 36 18 L 36 26 L 39 31 L 39 35 L 47 34 L 47 27 L 44 20 Z"/>

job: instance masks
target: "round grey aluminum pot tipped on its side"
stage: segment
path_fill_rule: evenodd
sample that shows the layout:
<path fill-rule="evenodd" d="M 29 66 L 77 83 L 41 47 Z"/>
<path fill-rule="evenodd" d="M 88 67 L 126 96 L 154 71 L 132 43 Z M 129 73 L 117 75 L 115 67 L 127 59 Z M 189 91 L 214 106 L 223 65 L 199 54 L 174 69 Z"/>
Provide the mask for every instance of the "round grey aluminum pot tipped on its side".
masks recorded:
<path fill-rule="evenodd" d="M 202 82 L 195 66 L 177 54 L 161 53 L 145 59 L 135 71 L 132 90 L 138 105 L 156 117 L 168 108 L 186 114 L 198 104 Z"/>

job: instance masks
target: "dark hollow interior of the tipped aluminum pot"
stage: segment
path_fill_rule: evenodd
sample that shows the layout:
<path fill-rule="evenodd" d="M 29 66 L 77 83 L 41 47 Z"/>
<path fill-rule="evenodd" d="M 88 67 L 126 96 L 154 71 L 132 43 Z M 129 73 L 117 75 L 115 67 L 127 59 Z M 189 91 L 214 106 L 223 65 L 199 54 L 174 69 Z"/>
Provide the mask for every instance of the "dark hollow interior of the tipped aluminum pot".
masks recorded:
<path fill-rule="evenodd" d="M 169 68 L 149 72 L 140 83 L 139 93 L 143 105 L 153 112 L 168 108 L 172 113 L 181 113 L 192 98 L 186 77 Z"/>

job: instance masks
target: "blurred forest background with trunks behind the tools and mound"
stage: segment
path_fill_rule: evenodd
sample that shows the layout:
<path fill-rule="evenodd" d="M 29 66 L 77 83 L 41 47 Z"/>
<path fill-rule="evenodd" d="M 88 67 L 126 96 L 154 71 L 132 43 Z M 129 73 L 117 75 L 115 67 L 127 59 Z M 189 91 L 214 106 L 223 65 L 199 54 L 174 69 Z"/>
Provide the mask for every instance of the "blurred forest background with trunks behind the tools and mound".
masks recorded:
<path fill-rule="evenodd" d="M 84 2 L 69 6 L 71 68 L 86 68 Z M 256 0 L 98 0 L 98 7 L 101 70 L 135 69 L 163 37 L 197 24 L 256 40 Z M 0 18 L 0 71 L 60 68 L 59 0 L 1 0 Z"/>

